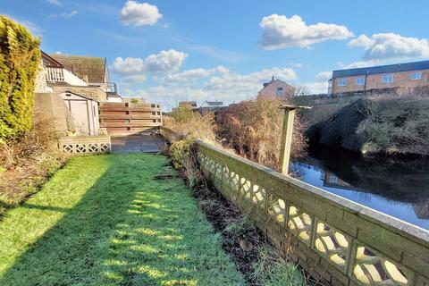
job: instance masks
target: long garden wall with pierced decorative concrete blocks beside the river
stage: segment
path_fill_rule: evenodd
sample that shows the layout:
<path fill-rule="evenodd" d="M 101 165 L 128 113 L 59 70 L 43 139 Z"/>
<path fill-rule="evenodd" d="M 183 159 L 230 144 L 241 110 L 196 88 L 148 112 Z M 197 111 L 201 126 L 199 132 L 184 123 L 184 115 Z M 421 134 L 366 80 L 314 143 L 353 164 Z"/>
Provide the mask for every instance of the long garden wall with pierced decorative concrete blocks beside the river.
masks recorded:
<path fill-rule="evenodd" d="M 166 139 L 180 138 L 161 128 Z M 198 144 L 198 162 L 225 198 L 323 284 L 429 285 L 429 231 Z"/>

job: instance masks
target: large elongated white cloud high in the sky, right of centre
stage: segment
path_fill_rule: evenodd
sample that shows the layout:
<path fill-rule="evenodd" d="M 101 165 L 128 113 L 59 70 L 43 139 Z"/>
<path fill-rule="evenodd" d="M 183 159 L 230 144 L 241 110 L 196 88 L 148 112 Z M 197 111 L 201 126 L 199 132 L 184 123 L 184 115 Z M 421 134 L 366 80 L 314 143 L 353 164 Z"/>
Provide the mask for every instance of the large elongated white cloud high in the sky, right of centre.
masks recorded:
<path fill-rule="evenodd" d="M 343 40 L 353 37 L 346 26 L 317 23 L 307 25 L 301 17 L 272 14 L 262 18 L 259 26 L 263 29 L 260 46 L 274 50 L 291 46 L 309 47 L 326 40 Z"/>

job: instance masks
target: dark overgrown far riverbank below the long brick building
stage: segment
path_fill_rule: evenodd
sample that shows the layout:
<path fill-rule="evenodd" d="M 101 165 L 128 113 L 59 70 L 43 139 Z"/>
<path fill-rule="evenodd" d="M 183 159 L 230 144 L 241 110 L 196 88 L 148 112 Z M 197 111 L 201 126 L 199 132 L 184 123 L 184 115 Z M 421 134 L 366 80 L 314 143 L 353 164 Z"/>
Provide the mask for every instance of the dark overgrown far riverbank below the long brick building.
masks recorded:
<path fill-rule="evenodd" d="M 424 96 L 366 97 L 333 112 L 331 105 L 319 105 L 304 117 L 310 122 L 310 144 L 366 156 L 429 155 L 429 98 Z"/>

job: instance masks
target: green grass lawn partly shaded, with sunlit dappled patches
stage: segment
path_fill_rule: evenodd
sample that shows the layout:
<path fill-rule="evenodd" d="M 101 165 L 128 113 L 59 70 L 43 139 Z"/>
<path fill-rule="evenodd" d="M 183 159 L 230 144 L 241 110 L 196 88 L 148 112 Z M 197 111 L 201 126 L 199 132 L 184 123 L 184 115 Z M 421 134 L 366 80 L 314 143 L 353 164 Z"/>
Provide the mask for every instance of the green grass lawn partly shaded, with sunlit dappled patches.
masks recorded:
<path fill-rule="evenodd" d="M 0 285 L 242 285 L 164 156 L 71 159 L 0 221 Z"/>

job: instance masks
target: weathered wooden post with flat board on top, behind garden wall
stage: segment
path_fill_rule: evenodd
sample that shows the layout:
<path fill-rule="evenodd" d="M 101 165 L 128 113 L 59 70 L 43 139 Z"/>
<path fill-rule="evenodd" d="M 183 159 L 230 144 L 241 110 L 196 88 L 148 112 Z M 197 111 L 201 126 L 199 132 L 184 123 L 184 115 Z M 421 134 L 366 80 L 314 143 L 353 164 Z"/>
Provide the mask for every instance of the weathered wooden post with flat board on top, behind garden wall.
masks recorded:
<path fill-rule="evenodd" d="M 279 172 L 289 174 L 290 147 L 292 146 L 293 120 L 297 109 L 311 109 L 309 106 L 282 105 L 284 109 L 282 143 L 280 146 Z"/>

